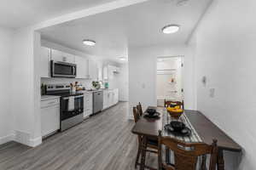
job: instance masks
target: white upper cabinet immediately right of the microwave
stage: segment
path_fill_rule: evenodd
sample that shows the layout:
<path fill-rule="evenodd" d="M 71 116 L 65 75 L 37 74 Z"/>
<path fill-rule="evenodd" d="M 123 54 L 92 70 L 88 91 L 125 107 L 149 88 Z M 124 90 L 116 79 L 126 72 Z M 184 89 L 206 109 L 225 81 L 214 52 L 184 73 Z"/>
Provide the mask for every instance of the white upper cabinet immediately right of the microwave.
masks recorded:
<path fill-rule="evenodd" d="M 76 56 L 77 65 L 77 77 L 76 78 L 88 78 L 88 59 Z"/>

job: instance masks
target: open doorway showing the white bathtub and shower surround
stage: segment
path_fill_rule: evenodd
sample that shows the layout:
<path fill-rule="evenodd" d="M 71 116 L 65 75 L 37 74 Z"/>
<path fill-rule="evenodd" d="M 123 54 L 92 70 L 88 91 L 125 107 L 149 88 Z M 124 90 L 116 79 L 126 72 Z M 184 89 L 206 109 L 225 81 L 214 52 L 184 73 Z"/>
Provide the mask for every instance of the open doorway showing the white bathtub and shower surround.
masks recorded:
<path fill-rule="evenodd" d="M 165 99 L 183 100 L 183 56 L 157 58 L 157 105 L 164 106 Z"/>

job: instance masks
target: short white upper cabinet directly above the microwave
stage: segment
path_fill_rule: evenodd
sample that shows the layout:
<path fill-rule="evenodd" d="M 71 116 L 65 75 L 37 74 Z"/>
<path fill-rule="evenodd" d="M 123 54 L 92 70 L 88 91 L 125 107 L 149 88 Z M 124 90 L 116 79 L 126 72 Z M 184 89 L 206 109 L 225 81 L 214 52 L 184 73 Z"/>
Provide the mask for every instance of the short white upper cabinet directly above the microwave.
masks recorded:
<path fill-rule="evenodd" d="M 75 63 L 75 56 L 73 54 L 67 54 L 56 49 L 51 49 L 51 59 L 67 63 Z"/>

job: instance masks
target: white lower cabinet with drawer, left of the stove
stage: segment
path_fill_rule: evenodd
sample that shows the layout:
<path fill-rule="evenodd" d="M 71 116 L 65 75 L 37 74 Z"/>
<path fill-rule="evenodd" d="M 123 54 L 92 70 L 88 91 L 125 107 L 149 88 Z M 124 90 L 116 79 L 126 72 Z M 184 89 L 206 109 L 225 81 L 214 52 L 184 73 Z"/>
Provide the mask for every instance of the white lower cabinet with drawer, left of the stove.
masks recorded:
<path fill-rule="evenodd" d="M 60 129 L 60 98 L 41 99 L 41 134 L 45 138 Z"/>

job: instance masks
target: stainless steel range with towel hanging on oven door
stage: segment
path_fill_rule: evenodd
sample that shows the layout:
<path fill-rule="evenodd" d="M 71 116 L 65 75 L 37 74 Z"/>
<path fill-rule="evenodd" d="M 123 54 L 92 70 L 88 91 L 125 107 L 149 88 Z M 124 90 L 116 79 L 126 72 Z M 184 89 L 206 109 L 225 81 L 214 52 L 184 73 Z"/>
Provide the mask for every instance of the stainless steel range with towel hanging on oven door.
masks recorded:
<path fill-rule="evenodd" d="M 70 89 L 68 84 L 46 85 L 46 95 L 61 96 L 61 131 L 83 122 L 84 94 Z"/>

